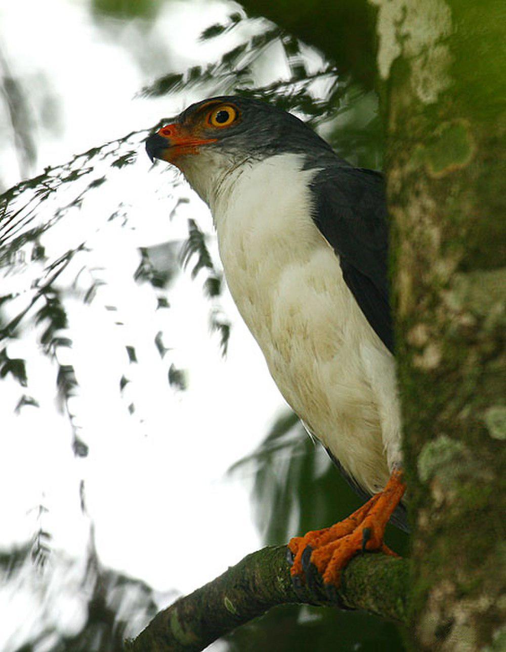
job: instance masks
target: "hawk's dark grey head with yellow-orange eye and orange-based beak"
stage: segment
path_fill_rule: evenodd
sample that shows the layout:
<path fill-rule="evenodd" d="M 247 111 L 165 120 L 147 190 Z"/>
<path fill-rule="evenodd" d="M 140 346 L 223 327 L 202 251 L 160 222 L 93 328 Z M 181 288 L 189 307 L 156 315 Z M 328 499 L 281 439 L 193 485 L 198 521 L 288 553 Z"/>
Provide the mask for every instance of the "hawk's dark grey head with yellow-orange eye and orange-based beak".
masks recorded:
<path fill-rule="evenodd" d="M 220 96 L 192 104 L 147 138 L 146 151 L 179 168 L 209 203 L 231 170 L 286 152 L 333 151 L 295 115 L 250 98 Z"/>

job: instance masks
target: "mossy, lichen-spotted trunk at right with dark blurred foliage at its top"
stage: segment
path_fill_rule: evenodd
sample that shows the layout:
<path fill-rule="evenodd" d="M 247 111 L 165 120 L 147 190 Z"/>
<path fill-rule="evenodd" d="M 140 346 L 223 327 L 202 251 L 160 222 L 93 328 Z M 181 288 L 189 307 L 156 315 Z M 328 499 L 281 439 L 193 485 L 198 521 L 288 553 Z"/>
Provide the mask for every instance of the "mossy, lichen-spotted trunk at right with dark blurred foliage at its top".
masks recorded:
<path fill-rule="evenodd" d="M 506 5 L 243 4 L 352 73 L 343 44 L 358 34 L 366 84 L 376 48 L 414 526 L 408 631 L 415 649 L 506 649 Z"/>

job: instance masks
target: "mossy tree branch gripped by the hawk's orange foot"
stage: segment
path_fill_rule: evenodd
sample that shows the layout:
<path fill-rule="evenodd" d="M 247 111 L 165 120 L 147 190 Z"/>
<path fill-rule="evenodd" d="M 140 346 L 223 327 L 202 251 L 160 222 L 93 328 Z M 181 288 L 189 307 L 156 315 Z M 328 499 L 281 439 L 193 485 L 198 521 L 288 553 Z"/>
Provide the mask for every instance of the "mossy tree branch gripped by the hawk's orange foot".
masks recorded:
<path fill-rule="evenodd" d="M 125 647 L 130 652 L 197 652 L 278 604 L 340 604 L 404 622 L 407 587 L 406 560 L 368 553 L 344 570 L 338 600 L 323 591 L 314 595 L 302 589 L 297 595 L 286 546 L 263 548 L 159 612 Z"/>

